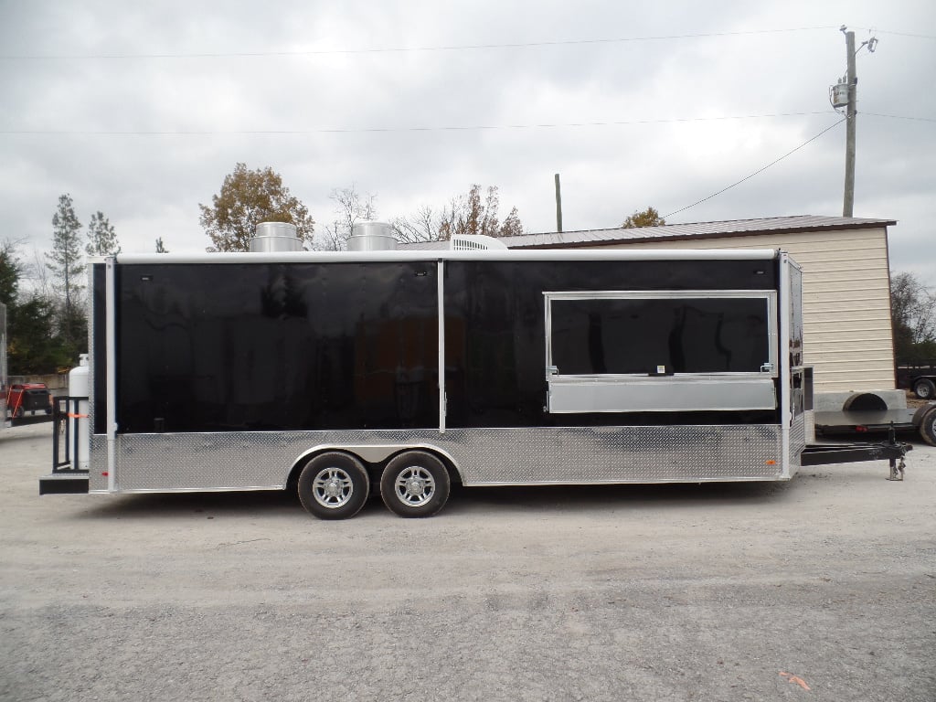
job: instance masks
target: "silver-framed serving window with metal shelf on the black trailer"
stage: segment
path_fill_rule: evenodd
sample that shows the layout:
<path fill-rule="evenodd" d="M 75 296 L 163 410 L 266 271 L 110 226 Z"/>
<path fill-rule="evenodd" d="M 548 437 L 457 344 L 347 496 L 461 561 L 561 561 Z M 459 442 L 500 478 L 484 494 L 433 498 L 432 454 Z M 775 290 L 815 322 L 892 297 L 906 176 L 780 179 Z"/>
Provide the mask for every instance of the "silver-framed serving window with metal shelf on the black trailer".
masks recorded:
<path fill-rule="evenodd" d="M 773 291 L 548 292 L 545 298 L 550 412 L 775 406 Z"/>

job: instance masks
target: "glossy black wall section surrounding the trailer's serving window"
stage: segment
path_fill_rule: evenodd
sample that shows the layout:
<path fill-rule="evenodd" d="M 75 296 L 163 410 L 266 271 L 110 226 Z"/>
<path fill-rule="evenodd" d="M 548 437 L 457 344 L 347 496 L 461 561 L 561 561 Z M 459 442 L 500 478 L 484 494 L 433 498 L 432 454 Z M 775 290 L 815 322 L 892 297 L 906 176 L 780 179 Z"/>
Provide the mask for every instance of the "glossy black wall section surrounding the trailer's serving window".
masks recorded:
<path fill-rule="evenodd" d="M 775 260 L 446 261 L 446 425 L 775 421 L 773 412 L 548 414 L 543 293 L 775 290 L 777 275 Z M 754 305 L 763 309 L 761 301 Z"/>

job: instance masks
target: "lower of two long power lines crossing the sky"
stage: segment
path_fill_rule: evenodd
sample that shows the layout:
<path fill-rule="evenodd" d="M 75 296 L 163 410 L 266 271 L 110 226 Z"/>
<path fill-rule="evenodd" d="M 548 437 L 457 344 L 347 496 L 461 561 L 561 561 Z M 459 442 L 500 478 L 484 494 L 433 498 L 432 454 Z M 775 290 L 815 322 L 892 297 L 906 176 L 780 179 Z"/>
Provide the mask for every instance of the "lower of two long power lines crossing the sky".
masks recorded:
<path fill-rule="evenodd" d="M 401 126 L 401 127 L 361 127 L 334 129 L 180 129 L 180 130 L 85 130 L 85 129 L 0 129 L 0 134 L 42 135 L 67 137 L 189 137 L 215 135 L 308 135 L 308 134 L 382 134 L 394 132 L 446 132 L 480 131 L 493 129 L 556 129 L 563 127 L 588 126 L 625 126 L 634 124 L 680 124 L 690 122 L 724 122 L 728 120 L 759 120 L 777 117 L 807 117 L 828 114 L 828 110 L 819 112 L 776 112 L 772 114 L 727 115 L 723 117 L 673 117 L 656 120 L 619 120 L 614 122 L 566 122 L 554 124 L 475 124 L 450 126 Z"/>

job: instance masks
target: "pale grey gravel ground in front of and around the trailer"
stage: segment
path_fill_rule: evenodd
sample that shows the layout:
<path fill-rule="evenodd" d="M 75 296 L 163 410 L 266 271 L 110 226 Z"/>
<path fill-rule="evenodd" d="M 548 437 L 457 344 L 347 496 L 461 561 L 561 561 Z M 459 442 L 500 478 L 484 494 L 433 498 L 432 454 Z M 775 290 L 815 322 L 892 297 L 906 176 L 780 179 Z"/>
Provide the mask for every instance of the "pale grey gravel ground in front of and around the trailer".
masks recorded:
<path fill-rule="evenodd" d="M 51 495 L 0 431 L 3 700 L 936 699 L 936 448 L 789 483 Z"/>

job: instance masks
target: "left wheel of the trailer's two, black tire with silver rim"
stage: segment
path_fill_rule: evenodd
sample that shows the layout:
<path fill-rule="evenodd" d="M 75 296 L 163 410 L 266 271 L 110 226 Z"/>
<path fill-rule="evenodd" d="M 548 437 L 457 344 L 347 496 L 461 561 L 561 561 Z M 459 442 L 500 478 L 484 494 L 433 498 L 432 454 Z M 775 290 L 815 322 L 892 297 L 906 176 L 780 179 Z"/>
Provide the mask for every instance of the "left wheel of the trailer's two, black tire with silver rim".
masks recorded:
<path fill-rule="evenodd" d="M 329 451 L 306 463 L 299 476 L 299 500 L 318 519 L 349 519 L 367 502 L 371 479 L 354 456 Z"/>

